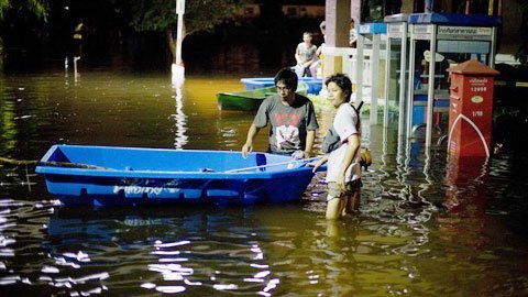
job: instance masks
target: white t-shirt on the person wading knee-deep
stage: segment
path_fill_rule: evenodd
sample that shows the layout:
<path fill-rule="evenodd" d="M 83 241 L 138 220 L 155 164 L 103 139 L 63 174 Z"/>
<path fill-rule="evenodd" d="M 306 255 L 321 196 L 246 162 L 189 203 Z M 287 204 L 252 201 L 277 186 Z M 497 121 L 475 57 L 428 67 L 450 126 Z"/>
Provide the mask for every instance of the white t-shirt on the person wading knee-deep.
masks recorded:
<path fill-rule="evenodd" d="M 342 145 L 330 153 L 328 157 L 328 170 L 327 182 L 337 182 L 341 164 L 344 162 L 346 147 L 349 147 L 348 138 L 358 134 L 361 136 L 361 122 L 359 114 L 354 108 L 349 103 L 342 103 L 338 108 L 336 118 L 333 118 L 333 128 L 341 139 Z M 361 178 L 361 165 L 360 165 L 360 150 L 352 160 L 346 174 L 344 176 L 344 183 L 349 183 Z"/>

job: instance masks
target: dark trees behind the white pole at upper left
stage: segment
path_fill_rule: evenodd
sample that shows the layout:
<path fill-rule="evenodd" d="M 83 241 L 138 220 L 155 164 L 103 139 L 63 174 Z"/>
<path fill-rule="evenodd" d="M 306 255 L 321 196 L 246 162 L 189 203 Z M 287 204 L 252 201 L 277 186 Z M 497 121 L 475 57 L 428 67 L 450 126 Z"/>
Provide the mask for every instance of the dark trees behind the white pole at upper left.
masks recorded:
<path fill-rule="evenodd" d="M 186 0 L 185 35 L 211 31 L 232 20 L 243 0 Z M 76 23 L 96 43 L 122 41 L 128 34 L 156 32 L 175 54 L 176 1 L 169 0 L 0 0 L 0 54 L 6 48 L 29 51 L 48 42 L 65 52 Z M 31 50 L 30 50 L 31 51 Z"/>

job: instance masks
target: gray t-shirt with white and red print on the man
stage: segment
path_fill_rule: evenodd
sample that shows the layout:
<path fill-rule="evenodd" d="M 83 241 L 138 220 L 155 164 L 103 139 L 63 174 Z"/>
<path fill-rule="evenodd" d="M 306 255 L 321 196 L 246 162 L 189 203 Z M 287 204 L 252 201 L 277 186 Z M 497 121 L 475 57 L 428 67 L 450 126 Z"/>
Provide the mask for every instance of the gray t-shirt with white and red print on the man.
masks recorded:
<path fill-rule="evenodd" d="M 270 123 L 270 152 L 276 154 L 292 154 L 297 150 L 305 150 L 307 131 L 317 130 L 314 103 L 298 94 L 295 95 L 295 105 L 285 106 L 280 97 L 274 95 L 262 102 L 253 123 L 256 128 L 264 128 Z"/>

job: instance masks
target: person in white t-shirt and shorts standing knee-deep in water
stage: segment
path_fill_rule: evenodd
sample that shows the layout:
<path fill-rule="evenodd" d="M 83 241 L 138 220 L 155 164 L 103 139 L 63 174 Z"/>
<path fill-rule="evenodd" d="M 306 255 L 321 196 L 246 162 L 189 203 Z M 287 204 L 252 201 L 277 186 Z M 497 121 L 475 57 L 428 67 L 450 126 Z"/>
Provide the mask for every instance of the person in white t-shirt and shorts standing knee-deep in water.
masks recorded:
<path fill-rule="evenodd" d="M 341 145 L 311 164 L 314 172 L 328 162 L 327 219 L 333 220 L 358 210 L 361 197 L 361 121 L 355 108 L 350 105 L 352 82 L 342 74 L 330 76 L 326 81 L 328 99 L 338 110 L 333 119 Z"/>

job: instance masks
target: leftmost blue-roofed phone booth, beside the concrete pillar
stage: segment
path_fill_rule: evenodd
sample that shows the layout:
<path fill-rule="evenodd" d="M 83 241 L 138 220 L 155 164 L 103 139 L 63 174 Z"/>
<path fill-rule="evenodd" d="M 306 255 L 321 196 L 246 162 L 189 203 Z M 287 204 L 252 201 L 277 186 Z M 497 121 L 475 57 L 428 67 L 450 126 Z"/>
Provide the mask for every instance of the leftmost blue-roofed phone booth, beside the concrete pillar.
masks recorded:
<path fill-rule="evenodd" d="M 372 44 L 371 58 L 371 116 L 370 124 L 377 124 L 377 98 L 380 89 L 380 52 L 382 34 L 387 33 L 386 23 L 364 23 L 358 25 L 358 62 L 356 62 L 356 89 L 358 100 L 363 99 L 363 62 L 365 45 Z M 387 106 L 387 105 L 385 105 Z"/>

